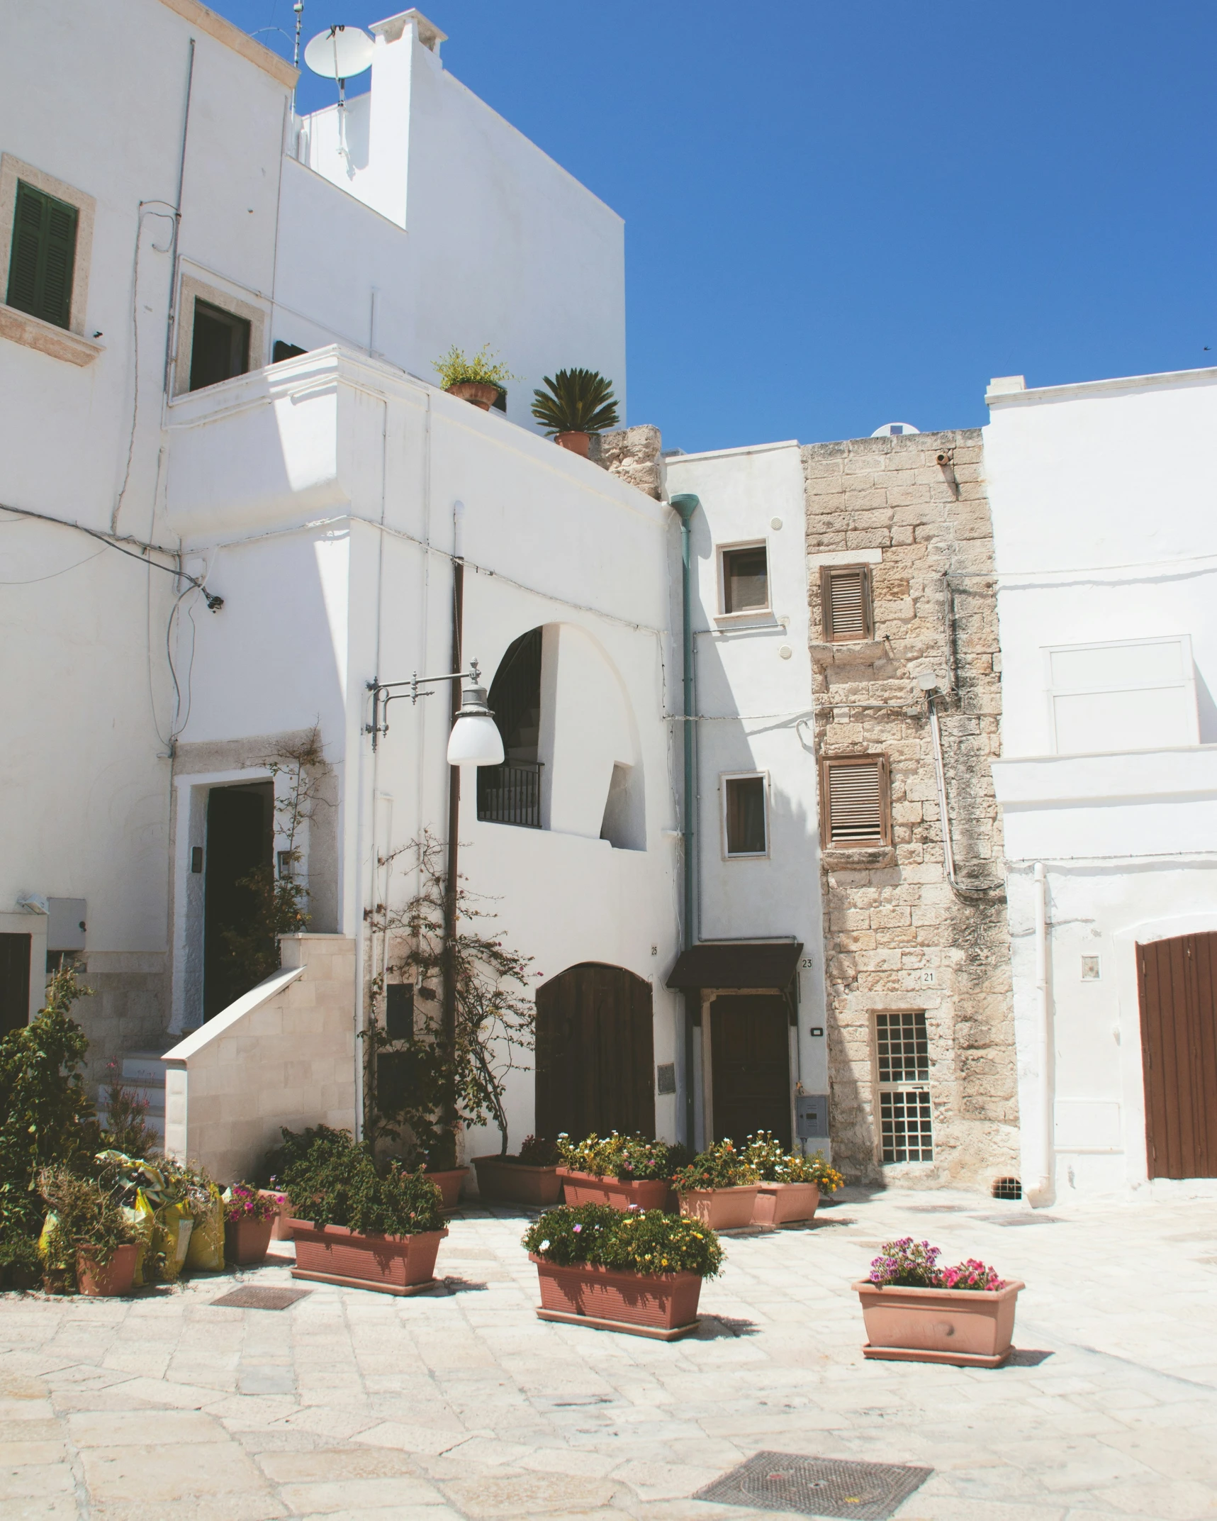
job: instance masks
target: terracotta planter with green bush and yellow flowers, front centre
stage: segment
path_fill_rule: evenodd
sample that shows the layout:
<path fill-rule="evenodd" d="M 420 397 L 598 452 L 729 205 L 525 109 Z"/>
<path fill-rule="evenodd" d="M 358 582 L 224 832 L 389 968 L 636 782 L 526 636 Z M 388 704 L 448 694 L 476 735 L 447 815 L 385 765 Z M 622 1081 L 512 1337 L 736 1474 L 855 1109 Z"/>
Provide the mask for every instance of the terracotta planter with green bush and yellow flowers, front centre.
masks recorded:
<path fill-rule="evenodd" d="M 723 1264 L 713 1230 L 662 1209 L 560 1205 L 523 1246 L 537 1267 L 539 1319 L 662 1342 L 697 1331 L 701 1279 Z"/>

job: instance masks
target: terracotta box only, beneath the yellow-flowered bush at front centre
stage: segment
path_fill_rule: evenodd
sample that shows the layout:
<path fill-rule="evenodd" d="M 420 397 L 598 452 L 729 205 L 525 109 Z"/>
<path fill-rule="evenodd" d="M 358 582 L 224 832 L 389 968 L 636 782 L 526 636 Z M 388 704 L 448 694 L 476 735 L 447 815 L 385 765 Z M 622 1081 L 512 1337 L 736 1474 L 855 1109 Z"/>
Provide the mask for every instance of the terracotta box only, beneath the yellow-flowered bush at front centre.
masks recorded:
<path fill-rule="evenodd" d="M 698 1273 L 630 1273 L 574 1262 L 558 1267 L 534 1252 L 542 1302 L 540 1320 L 627 1331 L 660 1342 L 675 1342 L 697 1329 Z"/>

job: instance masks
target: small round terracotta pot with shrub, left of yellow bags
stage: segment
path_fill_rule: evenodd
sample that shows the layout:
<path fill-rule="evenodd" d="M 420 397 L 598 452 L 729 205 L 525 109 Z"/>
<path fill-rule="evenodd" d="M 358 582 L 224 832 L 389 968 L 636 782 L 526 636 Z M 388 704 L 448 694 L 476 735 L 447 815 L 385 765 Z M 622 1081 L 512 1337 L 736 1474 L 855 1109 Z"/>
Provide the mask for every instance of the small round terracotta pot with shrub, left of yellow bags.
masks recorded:
<path fill-rule="evenodd" d="M 52 1269 L 75 1269 L 82 1294 L 129 1294 L 138 1255 L 135 1227 L 111 1189 L 67 1167 L 44 1168 L 38 1192 L 49 1215 L 38 1238 Z"/>

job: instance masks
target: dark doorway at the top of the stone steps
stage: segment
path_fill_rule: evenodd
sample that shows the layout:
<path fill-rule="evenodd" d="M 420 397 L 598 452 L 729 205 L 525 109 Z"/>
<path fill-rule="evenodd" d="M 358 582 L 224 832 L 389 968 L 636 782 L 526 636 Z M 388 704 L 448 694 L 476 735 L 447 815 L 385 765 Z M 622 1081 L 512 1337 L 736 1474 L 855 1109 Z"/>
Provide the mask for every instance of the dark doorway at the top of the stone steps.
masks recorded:
<path fill-rule="evenodd" d="M 274 786 L 213 786 L 207 794 L 204 865 L 202 1018 L 211 1019 L 248 993 L 266 972 L 274 937 L 262 932 L 260 893 L 272 885 Z"/>

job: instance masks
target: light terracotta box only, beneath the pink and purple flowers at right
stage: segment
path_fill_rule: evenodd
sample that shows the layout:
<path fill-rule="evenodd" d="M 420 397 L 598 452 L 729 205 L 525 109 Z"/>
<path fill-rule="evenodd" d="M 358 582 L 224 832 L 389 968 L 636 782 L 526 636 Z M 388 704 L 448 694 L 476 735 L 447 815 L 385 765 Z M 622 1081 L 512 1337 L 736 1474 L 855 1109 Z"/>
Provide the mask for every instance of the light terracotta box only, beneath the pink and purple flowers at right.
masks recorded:
<path fill-rule="evenodd" d="M 855 1284 L 863 1303 L 866 1357 L 907 1363 L 996 1367 L 1010 1355 L 1019 1279 L 1004 1288 L 879 1288 Z"/>

